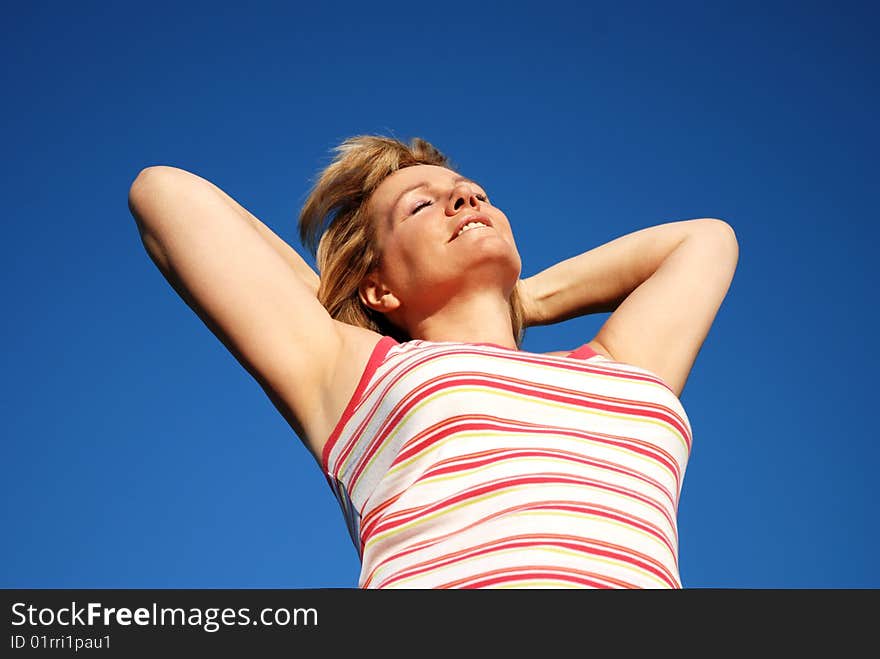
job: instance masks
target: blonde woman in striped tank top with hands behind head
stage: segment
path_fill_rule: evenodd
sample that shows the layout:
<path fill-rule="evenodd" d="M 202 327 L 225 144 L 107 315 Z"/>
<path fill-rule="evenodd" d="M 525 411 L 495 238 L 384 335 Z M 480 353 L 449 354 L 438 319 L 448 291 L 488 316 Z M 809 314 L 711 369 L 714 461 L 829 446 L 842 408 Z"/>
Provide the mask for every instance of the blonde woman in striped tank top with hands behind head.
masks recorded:
<path fill-rule="evenodd" d="M 736 268 L 727 223 L 650 227 L 520 280 L 487 191 L 379 136 L 338 147 L 303 207 L 320 279 L 194 174 L 147 168 L 129 200 L 321 466 L 361 587 L 681 587 L 679 396 Z M 525 326 L 605 311 L 579 348 L 519 350 Z"/>

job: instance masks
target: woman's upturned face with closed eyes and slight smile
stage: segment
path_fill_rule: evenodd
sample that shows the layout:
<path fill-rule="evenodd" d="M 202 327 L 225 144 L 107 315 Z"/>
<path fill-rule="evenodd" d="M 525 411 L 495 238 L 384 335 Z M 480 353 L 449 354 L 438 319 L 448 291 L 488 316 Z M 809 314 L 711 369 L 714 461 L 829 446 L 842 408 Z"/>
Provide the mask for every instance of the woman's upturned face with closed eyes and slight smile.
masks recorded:
<path fill-rule="evenodd" d="M 510 222 L 474 181 L 436 165 L 406 167 L 382 181 L 368 210 L 380 253 L 374 281 L 392 303 L 430 312 L 469 291 L 513 291 L 521 261 Z"/>

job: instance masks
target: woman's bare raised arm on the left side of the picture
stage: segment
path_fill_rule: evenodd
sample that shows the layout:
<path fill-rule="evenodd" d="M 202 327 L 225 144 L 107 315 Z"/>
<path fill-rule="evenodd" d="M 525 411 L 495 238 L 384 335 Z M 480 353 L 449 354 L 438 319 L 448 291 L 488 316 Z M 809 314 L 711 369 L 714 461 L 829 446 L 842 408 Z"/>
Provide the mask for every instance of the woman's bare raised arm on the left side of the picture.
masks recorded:
<path fill-rule="evenodd" d="M 273 249 L 218 190 L 185 170 L 148 167 L 129 208 L 168 283 L 320 455 L 328 383 L 345 367 L 349 334 L 303 280 L 299 256 Z"/>

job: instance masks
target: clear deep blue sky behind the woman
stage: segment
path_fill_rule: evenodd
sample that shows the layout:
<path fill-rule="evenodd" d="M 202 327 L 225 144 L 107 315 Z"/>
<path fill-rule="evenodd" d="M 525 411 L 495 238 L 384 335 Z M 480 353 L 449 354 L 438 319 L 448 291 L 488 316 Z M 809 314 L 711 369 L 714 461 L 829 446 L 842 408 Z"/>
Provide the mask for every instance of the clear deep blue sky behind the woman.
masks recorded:
<path fill-rule="evenodd" d="M 738 270 L 682 394 L 682 580 L 880 587 L 877 21 L 866 2 L 7 8 L 0 586 L 356 586 L 317 464 L 126 202 L 141 168 L 189 169 L 304 254 L 329 150 L 391 133 L 488 188 L 524 276 L 730 223 Z"/>

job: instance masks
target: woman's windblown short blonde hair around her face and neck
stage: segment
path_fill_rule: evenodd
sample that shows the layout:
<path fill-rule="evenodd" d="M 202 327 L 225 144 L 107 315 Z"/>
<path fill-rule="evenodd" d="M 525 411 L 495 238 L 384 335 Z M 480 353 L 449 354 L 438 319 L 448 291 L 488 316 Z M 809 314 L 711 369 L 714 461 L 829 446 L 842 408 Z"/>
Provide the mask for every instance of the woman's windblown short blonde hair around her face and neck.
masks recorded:
<path fill-rule="evenodd" d="M 370 196 L 386 177 L 404 167 L 438 165 L 449 159 L 418 137 L 409 144 L 380 135 L 350 137 L 318 177 L 299 216 L 302 243 L 315 255 L 321 284 L 318 300 L 336 320 L 364 327 L 397 341 L 412 339 L 360 298 L 363 278 L 379 265 L 376 222 L 369 216 Z M 510 296 L 510 321 L 517 346 L 523 337 L 518 284 Z"/>

